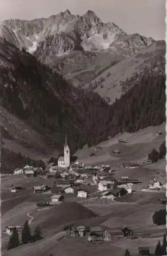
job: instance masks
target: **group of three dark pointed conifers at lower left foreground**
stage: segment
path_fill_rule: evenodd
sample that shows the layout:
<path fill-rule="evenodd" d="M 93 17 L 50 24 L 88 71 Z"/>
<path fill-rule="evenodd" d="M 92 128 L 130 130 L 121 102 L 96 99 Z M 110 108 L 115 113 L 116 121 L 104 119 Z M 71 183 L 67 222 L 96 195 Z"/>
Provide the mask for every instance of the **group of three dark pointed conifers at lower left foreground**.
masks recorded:
<path fill-rule="evenodd" d="M 14 228 L 12 235 L 9 239 L 8 250 L 13 249 L 22 244 L 36 242 L 41 239 L 43 239 L 43 237 L 42 237 L 42 232 L 41 232 L 40 226 L 38 225 L 34 230 L 34 234 L 31 234 L 29 223 L 27 221 L 25 221 L 24 226 L 22 228 L 22 232 L 21 232 L 21 242 L 19 240 L 18 231 L 16 228 Z"/>

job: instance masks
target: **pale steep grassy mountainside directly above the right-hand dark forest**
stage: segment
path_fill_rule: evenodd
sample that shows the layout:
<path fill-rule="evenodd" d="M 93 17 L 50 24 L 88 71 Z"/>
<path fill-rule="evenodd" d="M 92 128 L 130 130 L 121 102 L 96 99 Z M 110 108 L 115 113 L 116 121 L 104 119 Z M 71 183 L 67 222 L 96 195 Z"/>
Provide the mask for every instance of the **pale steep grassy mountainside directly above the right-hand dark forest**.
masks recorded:
<path fill-rule="evenodd" d="M 109 102 L 120 98 L 136 83 L 145 69 L 165 73 L 165 42 L 157 41 L 152 46 L 118 62 L 91 80 L 92 88 Z M 87 71 L 85 71 L 87 72 Z M 90 87 L 90 83 L 87 84 Z"/>

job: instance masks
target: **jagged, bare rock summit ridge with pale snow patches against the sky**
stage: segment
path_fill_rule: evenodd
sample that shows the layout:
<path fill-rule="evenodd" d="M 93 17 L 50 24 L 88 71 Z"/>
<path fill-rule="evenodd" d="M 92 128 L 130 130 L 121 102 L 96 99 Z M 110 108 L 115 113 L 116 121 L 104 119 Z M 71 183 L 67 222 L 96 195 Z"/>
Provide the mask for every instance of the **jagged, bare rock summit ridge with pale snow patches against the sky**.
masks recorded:
<path fill-rule="evenodd" d="M 46 58 L 51 54 L 61 53 L 62 55 L 76 49 L 81 51 L 112 50 L 113 44 L 122 45 L 124 37 L 128 36 L 114 23 L 103 23 L 92 10 L 79 16 L 71 14 L 67 9 L 48 18 L 9 19 L 5 20 L 4 24 L 15 33 L 21 47 L 25 47 L 37 57 L 45 54 Z M 128 40 L 126 39 L 123 45 L 131 47 L 130 39 Z M 131 41 L 133 43 L 133 40 Z M 140 36 L 136 37 L 136 44 L 142 45 L 141 41 L 146 42 L 145 47 L 152 43 L 151 39 L 143 40 Z"/>

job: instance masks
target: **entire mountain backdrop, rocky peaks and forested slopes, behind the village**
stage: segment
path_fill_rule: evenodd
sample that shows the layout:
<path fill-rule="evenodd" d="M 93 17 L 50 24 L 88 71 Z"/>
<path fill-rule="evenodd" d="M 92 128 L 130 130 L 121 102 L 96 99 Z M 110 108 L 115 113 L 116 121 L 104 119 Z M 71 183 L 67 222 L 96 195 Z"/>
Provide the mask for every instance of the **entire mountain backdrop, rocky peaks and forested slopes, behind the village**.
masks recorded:
<path fill-rule="evenodd" d="M 145 120 L 146 115 L 131 122 L 127 110 L 126 123 L 120 123 L 122 110 L 117 114 L 126 97 L 142 94 L 147 80 L 162 93 L 156 79 L 150 78 L 158 76 L 158 86 L 164 85 L 165 42 L 128 35 L 114 23 L 103 23 L 93 11 L 5 20 L 0 25 L 3 147 L 29 157 L 58 156 L 66 133 L 75 152 L 126 126 L 134 131 L 159 124 L 164 113 L 152 122 Z M 140 90 L 127 94 L 137 85 Z M 146 93 L 151 90 L 145 88 Z M 164 95 L 158 94 L 157 100 L 156 112 L 164 112 Z M 129 102 L 132 105 L 133 99 Z"/>

